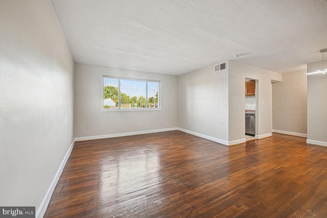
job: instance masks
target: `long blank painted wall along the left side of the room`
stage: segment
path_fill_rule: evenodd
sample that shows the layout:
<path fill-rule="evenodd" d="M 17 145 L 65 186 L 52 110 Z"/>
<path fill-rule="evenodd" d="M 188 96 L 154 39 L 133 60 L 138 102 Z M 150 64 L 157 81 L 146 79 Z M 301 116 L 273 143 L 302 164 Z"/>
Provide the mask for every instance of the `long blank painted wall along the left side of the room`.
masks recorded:
<path fill-rule="evenodd" d="M 0 205 L 40 208 L 73 142 L 74 60 L 49 1 L 0 1 Z"/>

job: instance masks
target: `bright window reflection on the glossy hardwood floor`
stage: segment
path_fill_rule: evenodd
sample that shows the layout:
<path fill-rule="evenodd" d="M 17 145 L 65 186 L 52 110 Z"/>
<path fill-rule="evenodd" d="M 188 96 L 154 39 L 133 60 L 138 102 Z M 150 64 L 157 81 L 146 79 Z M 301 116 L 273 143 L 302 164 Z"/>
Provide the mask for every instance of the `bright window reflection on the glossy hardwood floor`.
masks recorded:
<path fill-rule="evenodd" d="M 114 157 L 104 157 L 99 164 L 100 199 L 103 203 L 108 199 L 115 199 L 125 209 L 133 210 L 148 204 L 147 196 L 160 192 L 162 181 L 159 176 L 159 154 L 151 145 L 125 149 Z M 133 204 L 128 204 L 126 199 L 133 201 Z M 116 207 L 117 205 L 108 209 Z"/>

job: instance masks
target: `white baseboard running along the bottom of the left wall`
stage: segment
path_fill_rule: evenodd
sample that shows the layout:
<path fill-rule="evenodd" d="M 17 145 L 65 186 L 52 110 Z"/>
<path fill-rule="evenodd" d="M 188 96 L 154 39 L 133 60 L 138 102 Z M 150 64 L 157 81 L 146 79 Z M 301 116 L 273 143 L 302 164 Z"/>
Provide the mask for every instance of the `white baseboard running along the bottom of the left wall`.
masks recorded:
<path fill-rule="evenodd" d="M 44 213 L 46 211 L 46 208 L 48 208 L 48 205 L 49 205 L 49 202 L 50 202 L 50 199 L 52 197 L 52 194 L 53 194 L 53 191 L 55 190 L 55 187 L 57 185 L 57 182 L 61 176 L 61 173 L 63 171 L 63 168 L 68 160 L 68 157 L 69 155 L 71 155 L 71 152 L 73 150 L 73 147 L 74 147 L 74 143 L 75 143 L 75 140 L 73 140 L 71 146 L 69 147 L 65 157 L 63 158 L 60 166 L 59 166 L 59 169 L 54 177 L 54 179 L 52 180 L 52 183 L 48 189 L 48 191 L 46 192 L 45 194 L 45 197 L 43 198 L 43 201 L 39 207 L 39 209 L 37 210 L 36 214 L 35 214 L 35 217 L 37 218 L 42 218 L 44 216 Z"/>

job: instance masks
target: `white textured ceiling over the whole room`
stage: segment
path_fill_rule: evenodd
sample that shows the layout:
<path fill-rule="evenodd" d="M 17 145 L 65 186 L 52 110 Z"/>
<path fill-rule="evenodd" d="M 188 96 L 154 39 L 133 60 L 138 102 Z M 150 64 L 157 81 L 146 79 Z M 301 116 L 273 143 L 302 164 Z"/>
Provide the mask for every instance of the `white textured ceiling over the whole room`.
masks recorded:
<path fill-rule="evenodd" d="M 77 63 L 181 75 L 236 60 L 285 73 L 327 48 L 327 0 L 51 3 Z"/>

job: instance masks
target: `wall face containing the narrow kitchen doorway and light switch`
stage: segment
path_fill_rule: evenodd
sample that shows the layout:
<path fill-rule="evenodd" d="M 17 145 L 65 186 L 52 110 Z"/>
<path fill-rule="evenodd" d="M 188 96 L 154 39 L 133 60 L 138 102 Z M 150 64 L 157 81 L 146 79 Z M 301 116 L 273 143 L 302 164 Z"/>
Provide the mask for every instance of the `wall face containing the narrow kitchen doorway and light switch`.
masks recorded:
<path fill-rule="evenodd" d="M 272 91 L 271 81 L 282 81 L 282 74 L 228 61 L 228 138 L 230 142 L 241 142 L 245 135 L 245 79 L 256 82 L 256 136 L 271 134 Z M 262 104 L 263 103 L 263 104 Z M 237 110 L 237 107 L 240 110 Z"/>

